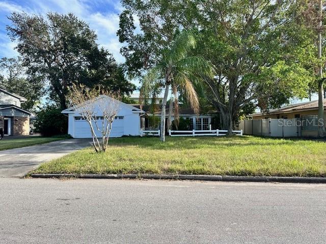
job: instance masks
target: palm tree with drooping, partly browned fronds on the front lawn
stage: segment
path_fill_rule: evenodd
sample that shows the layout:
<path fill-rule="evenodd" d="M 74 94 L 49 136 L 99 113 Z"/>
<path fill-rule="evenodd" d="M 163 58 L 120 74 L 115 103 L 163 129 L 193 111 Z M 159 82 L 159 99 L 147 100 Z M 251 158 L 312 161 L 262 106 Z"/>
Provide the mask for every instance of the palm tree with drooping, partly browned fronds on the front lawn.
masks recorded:
<path fill-rule="evenodd" d="M 157 95 L 157 87 L 165 89 L 160 118 L 161 141 L 165 141 L 166 106 L 170 88 L 171 99 L 168 124 L 171 123 L 172 111 L 176 123 L 178 122 L 178 95 L 180 92 L 185 95 L 194 112 L 199 114 L 199 99 L 195 87 L 203 83 L 204 77 L 213 78 L 214 76 L 212 66 L 203 57 L 190 55 L 195 47 L 194 35 L 191 32 L 182 31 L 171 47 L 162 52 L 157 66 L 150 69 L 143 79 L 140 90 L 141 98 L 148 98 L 153 94 Z"/>

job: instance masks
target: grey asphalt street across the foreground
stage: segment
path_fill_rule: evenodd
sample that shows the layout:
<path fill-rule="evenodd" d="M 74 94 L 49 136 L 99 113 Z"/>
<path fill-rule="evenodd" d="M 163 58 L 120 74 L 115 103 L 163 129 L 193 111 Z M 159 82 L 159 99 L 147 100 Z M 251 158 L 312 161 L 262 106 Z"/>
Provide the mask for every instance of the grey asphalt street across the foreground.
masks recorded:
<path fill-rule="evenodd" d="M 326 186 L 0 178 L 0 243 L 325 243 Z"/>

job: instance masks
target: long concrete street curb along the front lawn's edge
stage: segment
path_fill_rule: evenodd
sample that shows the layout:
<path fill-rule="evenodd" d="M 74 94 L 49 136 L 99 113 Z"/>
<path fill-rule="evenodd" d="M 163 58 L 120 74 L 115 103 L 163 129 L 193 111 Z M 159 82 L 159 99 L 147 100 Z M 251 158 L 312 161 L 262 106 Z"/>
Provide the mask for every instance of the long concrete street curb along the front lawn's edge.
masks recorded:
<path fill-rule="evenodd" d="M 32 178 L 85 178 L 85 179 L 188 179 L 208 181 L 288 182 L 326 184 L 326 177 L 283 177 L 283 176 L 222 176 L 185 174 L 31 174 Z"/>

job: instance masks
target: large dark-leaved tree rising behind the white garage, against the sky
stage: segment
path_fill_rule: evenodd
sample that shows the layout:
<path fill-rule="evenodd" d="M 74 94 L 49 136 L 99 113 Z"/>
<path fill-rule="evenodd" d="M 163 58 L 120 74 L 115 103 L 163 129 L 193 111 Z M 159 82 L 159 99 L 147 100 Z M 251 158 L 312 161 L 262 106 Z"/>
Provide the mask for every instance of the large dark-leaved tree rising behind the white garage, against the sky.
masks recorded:
<path fill-rule="evenodd" d="M 135 88 L 124 78 L 112 54 L 98 47 L 95 32 L 73 14 L 13 13 L 9 19 L 8 34 L 17 42 L 29 74 L 47 78 L 50 97 L 61 109 L 67 108 L 68 89 L 76 82 L 104 85 L 122 94 Z"/>

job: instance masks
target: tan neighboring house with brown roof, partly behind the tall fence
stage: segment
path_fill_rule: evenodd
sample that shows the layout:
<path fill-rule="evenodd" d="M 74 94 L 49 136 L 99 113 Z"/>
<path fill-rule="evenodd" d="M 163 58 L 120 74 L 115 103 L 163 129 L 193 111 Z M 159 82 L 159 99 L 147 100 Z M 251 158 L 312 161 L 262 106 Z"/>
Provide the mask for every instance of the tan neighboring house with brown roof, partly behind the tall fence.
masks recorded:
<path fill-rule="evenodd" d="M 324 102 L 324 109 L 326 109 L 326 100 Z M 318 121 L 318 101 L 310 101 L 305 103 L 292 104 L 281 107 L 279 109 L 270 110 L 268 112 L 260 112 L 247 115 L 248 117 L 257 119 L 293 119 L 300 120 L 299 129 L 303 137 L 317 136 L 317 121 Z M 326 112 L 324 110 L 324 117 L 326 119 Z"/>

